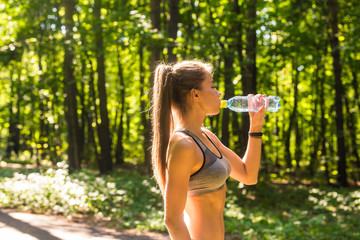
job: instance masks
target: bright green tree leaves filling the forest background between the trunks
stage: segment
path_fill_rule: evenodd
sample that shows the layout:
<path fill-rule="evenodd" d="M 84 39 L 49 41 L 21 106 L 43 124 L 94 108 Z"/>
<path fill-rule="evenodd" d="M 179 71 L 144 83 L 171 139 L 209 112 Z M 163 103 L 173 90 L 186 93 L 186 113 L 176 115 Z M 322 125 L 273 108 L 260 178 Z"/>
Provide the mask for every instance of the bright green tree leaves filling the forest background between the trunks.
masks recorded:
<path fill-rule="evenodd" d="M 166 61 L 171 44 L 178 60 L 195 58 L 213 64 L 214 80 L 223 94 L 225 76 L 228 72 L 233 73 L 234 94 L 242 95 L 244 62 L 241 58 L 247 55 L 249 25 L 246 1 L 180 1 L 176 39 L 168 38 L 168 1 L 161 2 L 159 30 L 152 28 L 149 1 L 102 2 L 110 137 L 115 149 L 122 109 L 121 90 L 125 88 L 125 112 L 121 115 L 124 120 L 122 147 L 125 162 L 144 163 L 145 126 L 141 118 L 147 116 L 150 109 L 150 46 L 154 42 L 162 49 L 161 60 Z M 239 9 L 234 7 L 235 2 Z M 343 98 L 348 100 L 349 108 L 344 106 L 343 109 L 345 135 L 354 133 L 354 137 L 345 138 L 347 171 L 349 179 L 356 184 L 360 164 L 357 157 L 360 149 L 357 80 L 360 8 L 356 0 L 339 0 L 338 3 L 341 75 L 346 89 Z M 55 0 L 9 0 L 0 4 L 0 158 L 11 155 L 7 149 L 12 144 L 10 128 L 15 126 L 19 131 L 20 152 L 30 153 L 38 163 L 46 159 L 56 164 L 66 159 L 68 143 L 63 83 L 66 32 L 65 10 L 61 4 Z M 67 43 L 74 52 L 78 122 L 83 138 L 82 163 L 86 166 L 97 166 L 99 153 L 96 128 L 100 112 L 93 7 L 93 1 L 76 1 L 73 39 Z M 287 173 L 284 168 L 295 171 L 298 167 L 296 171 L 303 175 L 317 177 L 318 174 L 327 179 L 327 165 L 328 177 L 333 183 L 337 174 L 331 173 L 337 173 L 338 160 L 327 1 L 257 1 L 256 10 L 257 92 L 277 95 L 282 104 L 278 113 L 267 115 L 263 148 L 266 165 L 262 168 L 265 172 L 282 176 L 282 173 Z M 231 71 L 225 69 L 225 56 L 229 53 L 234 56 Z M 122 66 L 123 84 L 120 84 L 118 62 Z M 143 84 L 140 79 L 144 80 Z M 143 96 L 140 96 L 140 88 L 144 88 Z M 145 112 L 141 112 L 141 100 L 146 102 Z M 295 106 L 296 114 L 293 115 Z M 88 119 L 83 115 L 85 111 Z M 239 125 L 240 119 L 239 114 Z M 322 119 L 324 132 L 321 130 Z M 228 126 L 229 143 L 239 152 L 235 149 L 238 148 L 239 133 L 233 132 L 233 122 L 231 119 Z M 211 121 L 206 120 L 206 124 L 217 130 L 218 136 L 222 135 L 221 114 Z M 287 138 L 289 149 L 285 147 Z M 290 166 L 286 166 L 288 162 Z"/>

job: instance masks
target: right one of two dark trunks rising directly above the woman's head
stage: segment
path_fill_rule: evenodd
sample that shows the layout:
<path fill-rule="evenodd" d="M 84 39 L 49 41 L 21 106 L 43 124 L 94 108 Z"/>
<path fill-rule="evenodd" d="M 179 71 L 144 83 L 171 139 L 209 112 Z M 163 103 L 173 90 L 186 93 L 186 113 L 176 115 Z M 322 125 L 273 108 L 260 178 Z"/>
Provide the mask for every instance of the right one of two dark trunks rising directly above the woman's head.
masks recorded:
<path fill-rule="evenodd" d="M 178 31 L 179 0 L 170 0 L 169 10 L 170 10 L 170 20 L 168 25 L 168 32 L 169 32 L 168 62 L 176 62 L 176 53 L 173 53 L 173 49 L 176 46 L 176 38 Z"/>

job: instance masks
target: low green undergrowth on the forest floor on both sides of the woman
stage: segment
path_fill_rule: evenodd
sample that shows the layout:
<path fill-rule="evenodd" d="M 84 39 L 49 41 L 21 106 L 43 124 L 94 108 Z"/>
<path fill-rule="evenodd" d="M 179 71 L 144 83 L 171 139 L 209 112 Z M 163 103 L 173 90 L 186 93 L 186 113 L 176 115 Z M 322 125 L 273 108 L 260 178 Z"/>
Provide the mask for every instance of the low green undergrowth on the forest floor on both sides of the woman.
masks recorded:
<path fill-rule="evenodd" d="M 117 229 L 166 231 L 152 178 L 135 171 L 2 168 L 0 206 L 91 216 Z M 229 181 L 225 228 L 233 239 L 360 239 L 360 191 L 303 184 Z M 236 237 L 235 237 L 236 236 Z"/>

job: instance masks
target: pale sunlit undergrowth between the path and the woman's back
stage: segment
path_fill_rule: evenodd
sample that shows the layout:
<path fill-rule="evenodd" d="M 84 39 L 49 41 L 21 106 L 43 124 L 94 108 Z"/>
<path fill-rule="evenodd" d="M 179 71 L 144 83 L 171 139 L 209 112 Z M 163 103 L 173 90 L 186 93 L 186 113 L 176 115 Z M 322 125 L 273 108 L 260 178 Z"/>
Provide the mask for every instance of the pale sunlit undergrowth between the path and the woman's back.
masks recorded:
<path fill-rule="evenodd" d="M 111 218 L 117 228 L 163 231 L 161 194 L 147 176 L 121 171 L 99 176 L 90 170 L 1 172 L 2 207 L 37 213 L 88 214 Z"/>

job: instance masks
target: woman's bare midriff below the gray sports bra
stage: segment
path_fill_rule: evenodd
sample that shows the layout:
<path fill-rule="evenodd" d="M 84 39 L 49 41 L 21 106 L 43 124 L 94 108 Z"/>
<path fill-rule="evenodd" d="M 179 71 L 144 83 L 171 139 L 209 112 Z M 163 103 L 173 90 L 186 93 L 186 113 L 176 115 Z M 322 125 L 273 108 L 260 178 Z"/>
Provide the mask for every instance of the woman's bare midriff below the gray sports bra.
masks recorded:
<path fill-rule="evenodd" d="M 190 218 L 187 225 L 192 239 L 224 239 L 225 198 L 226 186 L 215 192 L 187 198 L 185 211 Z"/>

